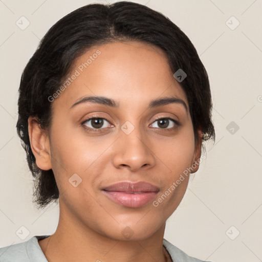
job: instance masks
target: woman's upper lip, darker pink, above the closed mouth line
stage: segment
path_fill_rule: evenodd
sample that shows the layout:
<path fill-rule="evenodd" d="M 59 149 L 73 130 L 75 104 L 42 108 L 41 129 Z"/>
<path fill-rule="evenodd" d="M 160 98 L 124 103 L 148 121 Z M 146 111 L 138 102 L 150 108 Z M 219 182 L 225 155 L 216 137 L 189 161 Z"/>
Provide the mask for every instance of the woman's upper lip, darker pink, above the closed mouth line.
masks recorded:
<path fill-rule="evenodd" d="M 119 192 L 159 192 L 159 187 L 154 186 L 150 183 L 139 181 L 139 182 L 128 182 L 123 181 L 103 188 L 105 191 L 119 191 Z"/>

